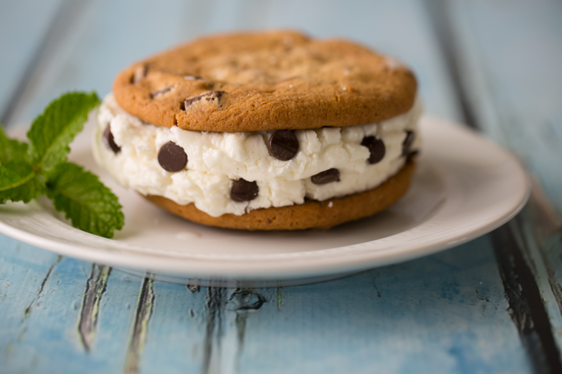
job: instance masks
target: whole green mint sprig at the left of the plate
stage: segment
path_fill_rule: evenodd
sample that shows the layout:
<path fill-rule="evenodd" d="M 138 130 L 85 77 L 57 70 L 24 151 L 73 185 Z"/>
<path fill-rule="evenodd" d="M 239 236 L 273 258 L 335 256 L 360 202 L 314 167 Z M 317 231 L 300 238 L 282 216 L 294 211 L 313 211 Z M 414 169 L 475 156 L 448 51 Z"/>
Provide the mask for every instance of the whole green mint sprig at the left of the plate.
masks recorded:
<path fill-rule="evenodd" d="M 94 92 L 60 96 L 33 121 L 29 145 L 9 139 L 0 126 L 0 203 L 27 203 L 46 194 L 78 229 L 106 238 L 121 229 L 117 196 L 96 175 L 67 162 L 70 142 L 99 104 Z"/>

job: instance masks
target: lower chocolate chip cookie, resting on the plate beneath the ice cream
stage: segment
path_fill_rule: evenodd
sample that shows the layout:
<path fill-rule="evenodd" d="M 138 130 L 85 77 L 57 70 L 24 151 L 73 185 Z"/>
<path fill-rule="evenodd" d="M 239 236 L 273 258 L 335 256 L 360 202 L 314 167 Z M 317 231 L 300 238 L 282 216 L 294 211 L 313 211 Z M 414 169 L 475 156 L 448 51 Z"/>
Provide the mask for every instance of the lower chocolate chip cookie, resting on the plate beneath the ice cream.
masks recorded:
<path fill-rule="evenodd" d="M 373 215 L 391 206 L 410 187 L 414 168 L 414 161 L 409 159 L 396 175 L 382 185 L 358 194 L 325 201 L 307 200 L 299 205 L 279 208 L 256 209 L 243 215 L 223 214 L 212 217 L 195 208 L 193 203 L 179 205 L 162 196 L 144 197 L 166 211 L 203 225 L 244 230 L 329 229 Z"/>

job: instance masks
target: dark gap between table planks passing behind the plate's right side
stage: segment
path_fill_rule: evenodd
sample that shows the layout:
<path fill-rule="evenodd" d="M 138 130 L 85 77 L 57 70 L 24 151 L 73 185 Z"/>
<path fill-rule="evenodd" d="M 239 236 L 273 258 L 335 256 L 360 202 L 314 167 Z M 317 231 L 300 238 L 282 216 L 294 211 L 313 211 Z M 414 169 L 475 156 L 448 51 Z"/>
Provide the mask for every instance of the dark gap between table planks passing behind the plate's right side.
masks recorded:
<path fill-rule="evenodd" d="M 447 0 L 425 0 L 425 3 L 461 103 L 464 121 L 471 128 L 481 129 L 483 127 L 482 123 L 478 123 L 476 108 L 469 100 L 469 87 L 464 85 L 461 75 L 464 61 L 459 53 L 450 3 Z M 530 267 L 532 260 L 525 258 L 524 248 L 518 246 L 514 232 L 508 225 L 499 227 L 490 236 L 509 304 L 508 312 L 535 372 L 562 373 L 560 353 L 547 309 Z"/>

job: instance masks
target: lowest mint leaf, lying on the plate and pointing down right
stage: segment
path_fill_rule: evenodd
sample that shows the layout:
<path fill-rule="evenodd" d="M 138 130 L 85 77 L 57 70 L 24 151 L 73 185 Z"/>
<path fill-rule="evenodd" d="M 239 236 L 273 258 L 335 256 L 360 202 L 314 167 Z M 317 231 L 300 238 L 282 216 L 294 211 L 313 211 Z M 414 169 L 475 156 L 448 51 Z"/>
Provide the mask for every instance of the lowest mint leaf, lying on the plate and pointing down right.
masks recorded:
<path fill-rule="evenodd" d="M 78 229 L 110 238 L 113 230 L 123 227 L 117 196 L 96 175 L 74 163 L 61 163 L 55 168 L 49 176 L 47 196 Z"/>

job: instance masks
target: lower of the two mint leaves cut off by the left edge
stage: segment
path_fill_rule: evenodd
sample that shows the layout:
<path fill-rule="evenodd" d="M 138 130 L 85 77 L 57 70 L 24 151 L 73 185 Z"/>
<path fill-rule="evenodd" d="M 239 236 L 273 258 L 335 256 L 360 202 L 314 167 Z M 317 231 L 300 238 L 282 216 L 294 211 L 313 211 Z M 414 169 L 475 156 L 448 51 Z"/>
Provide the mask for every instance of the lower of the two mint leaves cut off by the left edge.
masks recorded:
<path fill-rule="evenodd" d="M 44 193 L 44 182 L 37 178 L 27 161 L 14 160 L 0 166 L 0 203 L 28 203 Z"/>

